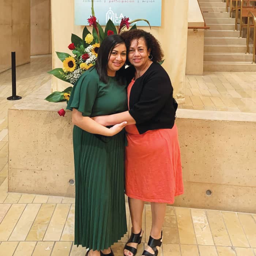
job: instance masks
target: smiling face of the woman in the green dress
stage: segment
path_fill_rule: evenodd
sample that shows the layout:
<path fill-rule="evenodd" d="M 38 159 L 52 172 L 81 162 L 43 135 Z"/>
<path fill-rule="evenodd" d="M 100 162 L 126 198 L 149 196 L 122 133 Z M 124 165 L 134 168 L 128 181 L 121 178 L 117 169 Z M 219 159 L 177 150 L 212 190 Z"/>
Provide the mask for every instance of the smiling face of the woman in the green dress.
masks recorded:
<path fill-rule="evenodd" d="M 116 71 L 123 67 L 126 61 L 126 46 L 125 44 L 117 44 L 109 54 L 108 75 L 115 76 Z"/>

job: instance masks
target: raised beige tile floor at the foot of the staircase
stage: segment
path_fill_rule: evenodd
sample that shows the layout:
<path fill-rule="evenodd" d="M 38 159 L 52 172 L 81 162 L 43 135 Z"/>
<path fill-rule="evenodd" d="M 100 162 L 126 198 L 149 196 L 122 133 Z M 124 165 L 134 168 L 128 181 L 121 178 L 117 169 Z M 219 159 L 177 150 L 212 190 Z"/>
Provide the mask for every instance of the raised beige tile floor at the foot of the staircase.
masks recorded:
<path fill-rule="evenodd" d="M 256 72 L 187 75 L 185 103 L 179 108 L 256 113 Z"/>

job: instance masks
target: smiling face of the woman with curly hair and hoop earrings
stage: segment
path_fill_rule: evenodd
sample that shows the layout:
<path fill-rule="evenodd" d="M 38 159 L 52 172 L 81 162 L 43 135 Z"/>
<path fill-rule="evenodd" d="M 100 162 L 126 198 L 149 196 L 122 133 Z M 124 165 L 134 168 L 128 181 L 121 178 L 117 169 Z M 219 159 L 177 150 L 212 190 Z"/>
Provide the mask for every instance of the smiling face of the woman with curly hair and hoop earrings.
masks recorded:
<path fill-rule="evenodd" d="M 150 60 L 151 49 L 147 49 L 146 41 L 143 37 L 133 39 L 128 51 L 128 60 L 135 68 L 145 67 Z"/>

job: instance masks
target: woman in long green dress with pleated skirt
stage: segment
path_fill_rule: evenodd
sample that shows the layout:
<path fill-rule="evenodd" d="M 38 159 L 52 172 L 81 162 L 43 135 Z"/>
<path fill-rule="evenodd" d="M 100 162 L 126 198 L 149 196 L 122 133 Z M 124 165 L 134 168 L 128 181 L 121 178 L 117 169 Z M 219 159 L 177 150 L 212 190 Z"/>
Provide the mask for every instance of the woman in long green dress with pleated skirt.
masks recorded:
<path fill-rule="evenodd" d="M 79 77 L 67 105 L 74 124 L 74 243 L 89 248 L 86 256 L 113 256 L 110 245 L 127 232 L 123 131 L 127 123 L 107 128 L 91 119 L 127 110 L 121 76 L 125 60 L 123 39 L 105 38 L 96 65 Z"/>

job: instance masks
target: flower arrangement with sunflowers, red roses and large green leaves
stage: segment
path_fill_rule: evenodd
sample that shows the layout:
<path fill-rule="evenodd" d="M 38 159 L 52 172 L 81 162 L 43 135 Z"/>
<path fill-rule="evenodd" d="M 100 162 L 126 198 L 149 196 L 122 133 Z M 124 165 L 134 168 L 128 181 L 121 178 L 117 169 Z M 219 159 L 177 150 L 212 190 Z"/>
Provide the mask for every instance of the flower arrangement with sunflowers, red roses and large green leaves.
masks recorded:
<path fill-rule="evenodd" d="M 105 31 L 97 22 L 97 18 L 94 14 L 93 0 L 92 0 L 92 15 L 87 19 L 89 26 L 93 26 L 93 31 L 90 31 L 85 26 L 83 29 L 82 38 L 75 34 L 71 35 L 71 44 L 68 45 L 68 49 L 72 51 L 73 56 L 64 52 L 56 52 L 57 56 L 63 63 L 62 68 L 54 68 L 49 71 L 49 74 L 56 76 L 57 78 L 71 83 L 74 85 L 80 75 L 87 69 L 94 66 L 98 56 L 98 50 L 101 42 L 104 38 L 113 34 L 120 34 L 123 29 L 136 29 L 136 24 L 131 26 L 132 23 L 143 20 L 150 23 L 146 19 L 136 19 L 130 22 L 129 18 L 122 18 L 120 25 L 117 27 L 114 25 L 111 19 L 108 20 Z M 48 95 L 45 99 L 49 102 L 61 102 L 69 100 L 69 96 L 72 91 L 72 86 L 67 87 L 64 91 L 54 91 Z M 65 110 L 63 109 L 65 112 Z M 58 113 L 60 116 L 64 116 L 64 112 L 61 110 Z"/>

